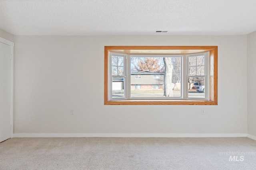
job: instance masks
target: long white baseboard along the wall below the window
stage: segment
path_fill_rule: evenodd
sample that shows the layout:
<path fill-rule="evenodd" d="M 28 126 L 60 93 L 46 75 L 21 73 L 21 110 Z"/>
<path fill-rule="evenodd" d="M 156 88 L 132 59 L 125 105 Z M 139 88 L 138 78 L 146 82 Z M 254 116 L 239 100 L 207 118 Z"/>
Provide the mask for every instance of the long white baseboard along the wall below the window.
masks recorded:
<path fill-rule="evenodd" d="M 247 137 L 246 133 L 14 133 L 13 137 Z"/>

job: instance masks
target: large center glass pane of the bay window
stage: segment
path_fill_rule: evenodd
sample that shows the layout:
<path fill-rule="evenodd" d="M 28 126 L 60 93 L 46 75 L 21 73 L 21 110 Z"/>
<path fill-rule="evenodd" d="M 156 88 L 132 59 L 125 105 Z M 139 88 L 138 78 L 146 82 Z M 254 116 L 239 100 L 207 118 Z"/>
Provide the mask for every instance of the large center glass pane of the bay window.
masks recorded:
<path fill-rule="evenodd" d="M 181 97 L 182 57 L 131 56 L 130 65 L 131 98 Z"/>

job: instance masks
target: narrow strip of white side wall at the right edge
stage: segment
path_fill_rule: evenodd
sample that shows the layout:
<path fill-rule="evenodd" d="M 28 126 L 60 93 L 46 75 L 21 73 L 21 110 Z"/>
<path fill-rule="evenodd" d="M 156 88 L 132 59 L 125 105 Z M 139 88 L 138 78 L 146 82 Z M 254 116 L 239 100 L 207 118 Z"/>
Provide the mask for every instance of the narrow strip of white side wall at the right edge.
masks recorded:
<path fill-rule="evenodd" d="M 248 134 L 256 136 L 256 31 L 247 35 Z"/>

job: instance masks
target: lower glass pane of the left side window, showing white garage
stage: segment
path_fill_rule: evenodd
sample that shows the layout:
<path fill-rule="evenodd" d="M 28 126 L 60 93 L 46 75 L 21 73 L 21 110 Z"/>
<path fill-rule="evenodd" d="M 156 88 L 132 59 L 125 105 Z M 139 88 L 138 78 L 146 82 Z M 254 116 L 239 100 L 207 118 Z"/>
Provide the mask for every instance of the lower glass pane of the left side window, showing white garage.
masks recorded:
<path fill-rule="evenodd" d="M 112 77 L 112 98 L 124 98 L 124 77 Z"/>

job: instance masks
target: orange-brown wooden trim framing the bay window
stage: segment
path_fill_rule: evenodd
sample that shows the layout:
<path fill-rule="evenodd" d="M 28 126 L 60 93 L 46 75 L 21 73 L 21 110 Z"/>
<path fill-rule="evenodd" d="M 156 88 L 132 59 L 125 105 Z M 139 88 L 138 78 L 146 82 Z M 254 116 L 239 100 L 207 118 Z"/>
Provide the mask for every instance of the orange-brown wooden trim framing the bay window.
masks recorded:
<path fill-rule="evenodd" d="M 210 101 L 197 100 L 108 100 L 108 52 L 112 50 L 189 50 L 210 52 Z M 105 46 L 104 50 L 104 104 L 105 105 L 218 105 L 218 46 Z"/>

